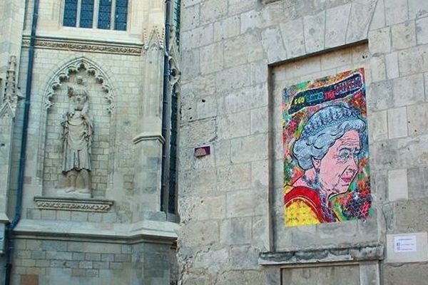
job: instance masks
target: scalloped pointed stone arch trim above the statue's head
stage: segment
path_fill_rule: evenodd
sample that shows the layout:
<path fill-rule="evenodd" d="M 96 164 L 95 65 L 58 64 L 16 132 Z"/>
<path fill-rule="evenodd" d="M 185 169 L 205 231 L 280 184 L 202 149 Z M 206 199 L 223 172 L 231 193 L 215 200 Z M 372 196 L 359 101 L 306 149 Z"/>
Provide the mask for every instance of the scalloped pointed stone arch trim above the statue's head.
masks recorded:
<path fill-rule="evenodd" d="M 83 57 L 76 58 L 73 61 L 66 63 L 65 66 L 56 71 L 54 76 L 52 76 L 44 93 L 44 107 L 46 108 L 46 110 L 48 110 L 49 108 L 51 108 L 52 105 L 54 105 L 54 103 L 51 102 L 51 98 L 56 94 L 56 90 L 61 86 L 61 83 L 63 83 L 63 81 L 66 81 L 66 79 L 69 78 L 71 73 L 76 73 L 81 69 L 85 69 L 87 73 L 92 76 L 95 76 L 97 83 L 101 84 L 101 89 L 106 93 L 104 98 L 106 98 L 106 100 L 108 100 L 108 103 L 110 103 L 110 105 L 108 105 L 107 110 L 109 113 L 113 113 L 115 109 L 115 102 L 111 85 L 107 83 L 108 76 L 96 63 L 88 60 L 88 58 Z"/>

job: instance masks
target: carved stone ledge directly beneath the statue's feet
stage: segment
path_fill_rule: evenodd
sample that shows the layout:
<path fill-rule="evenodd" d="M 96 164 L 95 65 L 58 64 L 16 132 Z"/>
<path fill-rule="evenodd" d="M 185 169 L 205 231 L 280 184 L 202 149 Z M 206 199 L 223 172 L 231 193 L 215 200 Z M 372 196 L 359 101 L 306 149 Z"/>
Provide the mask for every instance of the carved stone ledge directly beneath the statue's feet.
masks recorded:
<path fill-rule="evenodd" d="M 113 205 L 111 200 L 58 197 L 34 197 L 34 202 L 39 209 L 63 209 L 80 212 L 108 212 Z"/>

